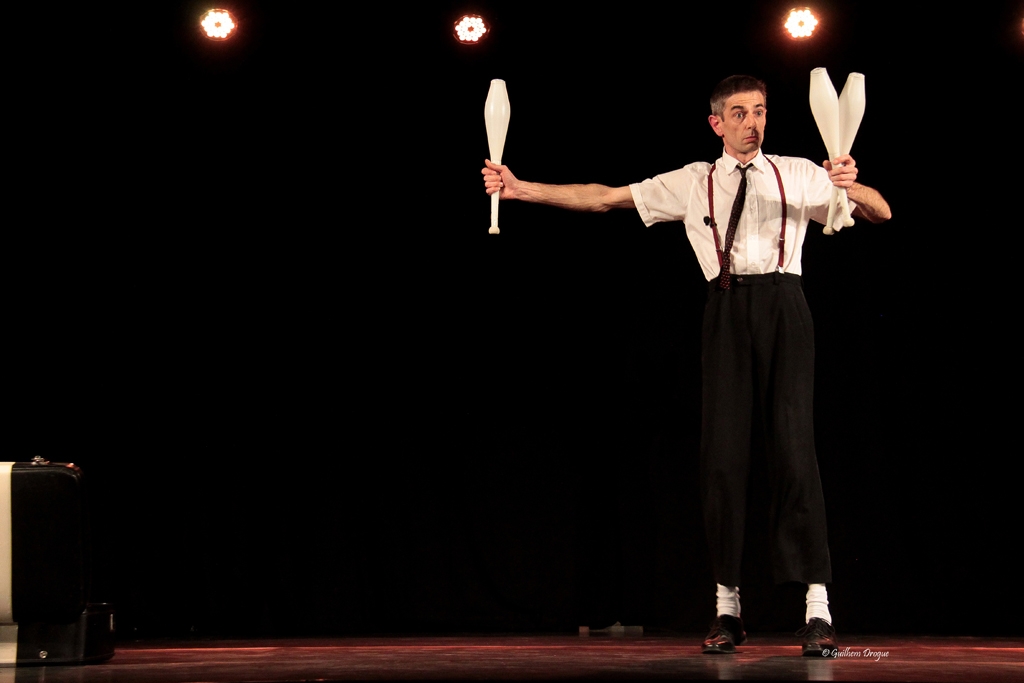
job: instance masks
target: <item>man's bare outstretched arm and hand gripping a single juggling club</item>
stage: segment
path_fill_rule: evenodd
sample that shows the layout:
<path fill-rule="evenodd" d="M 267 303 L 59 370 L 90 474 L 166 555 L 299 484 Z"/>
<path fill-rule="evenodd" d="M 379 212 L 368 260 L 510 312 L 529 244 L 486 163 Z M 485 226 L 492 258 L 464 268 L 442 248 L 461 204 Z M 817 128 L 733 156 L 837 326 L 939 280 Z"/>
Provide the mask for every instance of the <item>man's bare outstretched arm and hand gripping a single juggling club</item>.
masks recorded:
<path fill-rule="evenodd" d="M 520 200 L 546 204 L 572 211 L 604 212 L 610 209 L 631 209 L 633 194 L 629 187 L 607 185 L 549 185 L 543 182 L 519 180 L 508 166 L 483 162 L 483 186 L 488 195 L 501 191 L 503 200 Z"/>

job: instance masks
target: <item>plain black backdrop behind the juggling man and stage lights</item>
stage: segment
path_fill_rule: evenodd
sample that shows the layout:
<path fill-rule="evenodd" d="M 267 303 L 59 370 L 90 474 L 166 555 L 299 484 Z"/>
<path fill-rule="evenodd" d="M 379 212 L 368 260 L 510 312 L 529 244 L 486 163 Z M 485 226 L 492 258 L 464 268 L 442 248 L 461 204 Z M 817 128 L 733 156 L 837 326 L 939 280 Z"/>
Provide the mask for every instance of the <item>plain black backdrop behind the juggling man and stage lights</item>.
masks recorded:
<path fill-rule="evenodd" d="M 804 250 L 833 614 L 1021 633 L 1019 4 L 817 3 L 807 43 L 777 2 L 227 4 L 224 43 L 201 3 L 63 10 L 10 69 L 6 459 L 85 471 L 122 637 L 702 631 L 700 269 L 635 212 L 487 236 L 481 112 L 505 79 L 519 177 L 626 184 L 717 158 L 751 73 L 766 151 L 820 161 L 815 67 L 865 74 L 894 214 Z M 743 616 L 796 629 L 766 506 Z"/>

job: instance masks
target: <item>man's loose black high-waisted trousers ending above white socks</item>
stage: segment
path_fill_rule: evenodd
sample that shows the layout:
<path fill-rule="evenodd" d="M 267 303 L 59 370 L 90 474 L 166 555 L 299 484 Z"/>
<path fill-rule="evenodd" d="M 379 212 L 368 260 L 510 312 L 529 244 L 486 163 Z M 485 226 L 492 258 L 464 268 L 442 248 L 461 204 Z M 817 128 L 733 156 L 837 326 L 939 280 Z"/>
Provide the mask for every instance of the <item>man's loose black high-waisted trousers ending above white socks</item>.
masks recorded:
<path fill-rule="evenodd" d="M 814 453 L 814 327 L 800 275 L 733 275 L 705 307 L 700 483 L 715 580 L 739 585 L 755 401 L 771 487 L 769 535 L 778 583 L 831 581 Z"/>

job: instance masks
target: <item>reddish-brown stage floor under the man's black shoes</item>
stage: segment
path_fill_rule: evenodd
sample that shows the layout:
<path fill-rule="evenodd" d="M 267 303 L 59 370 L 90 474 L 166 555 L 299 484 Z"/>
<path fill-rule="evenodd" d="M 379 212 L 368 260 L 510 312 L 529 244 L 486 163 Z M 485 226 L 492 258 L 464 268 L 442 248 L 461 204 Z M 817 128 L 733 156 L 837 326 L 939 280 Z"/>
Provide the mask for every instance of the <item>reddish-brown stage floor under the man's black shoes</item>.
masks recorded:
<path fill-rule="evenodd" d="M 753 636 L 733 655 L 703 634 L 466 635 L 121 644 L 85 667 L 0 670 L 0 683 L 293 683 L 351 680 L 678 679 L 1024 681 L 1024 638 L 848 636 L 835 659 L 800 656 L 794 636 Z"/>

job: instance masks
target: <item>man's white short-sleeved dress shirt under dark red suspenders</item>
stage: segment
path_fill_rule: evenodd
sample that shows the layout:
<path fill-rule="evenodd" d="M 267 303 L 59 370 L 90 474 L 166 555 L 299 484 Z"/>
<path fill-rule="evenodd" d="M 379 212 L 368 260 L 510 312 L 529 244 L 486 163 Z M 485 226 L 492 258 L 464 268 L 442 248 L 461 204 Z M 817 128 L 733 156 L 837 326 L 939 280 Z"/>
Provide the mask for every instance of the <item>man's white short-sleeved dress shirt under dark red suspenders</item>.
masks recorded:
<path fill-rule="evenodd" d="M 782 175 L 787 204 L 783 271 L 801 274 L 800 257 L 807 224 L 812 219 L 823 224 L 827 219 L 833 184 L 824 168 L 806 159 L 772 156 L 771 160 Z M 778 265 L 778 237 L 782 225 L 778 180 L 760 151 L 750 164 L 754 168 L 746 172 L 746 198 L 732 243 L 730 270 L 736 274 L 773 272 Z M 715 221 L 723 248 L 732 202 L 739 187 L 737 165 L 738 161 L 723 152 L 715 168 Z M 708 172 L 711 166 L 697 162 L 630 185 L 633 202 L 645 225 L 683 221 L 686 237 L 709 281 L 719 274 L 715 236 L 705 224 L 705 216 L 710 215 Z M 851 202 L 851 211 L 854 206 Z"/>

